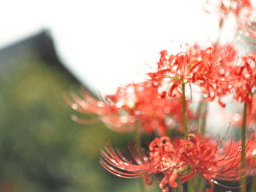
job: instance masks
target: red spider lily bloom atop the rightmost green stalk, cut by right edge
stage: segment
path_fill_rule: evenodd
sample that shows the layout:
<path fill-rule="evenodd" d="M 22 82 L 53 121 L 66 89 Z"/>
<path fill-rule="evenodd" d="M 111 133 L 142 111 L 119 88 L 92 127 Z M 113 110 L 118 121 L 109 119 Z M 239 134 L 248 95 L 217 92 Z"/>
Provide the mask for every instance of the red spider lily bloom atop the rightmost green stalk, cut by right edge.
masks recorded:
<path fill-rule="evenodd" d="M 245 101 L 252 108 L 252 98 L 256 91 L 256 55 L 251 53 L 241 58 L 241 64 L 233 70 L 236 78 L 236 100 Z"/>

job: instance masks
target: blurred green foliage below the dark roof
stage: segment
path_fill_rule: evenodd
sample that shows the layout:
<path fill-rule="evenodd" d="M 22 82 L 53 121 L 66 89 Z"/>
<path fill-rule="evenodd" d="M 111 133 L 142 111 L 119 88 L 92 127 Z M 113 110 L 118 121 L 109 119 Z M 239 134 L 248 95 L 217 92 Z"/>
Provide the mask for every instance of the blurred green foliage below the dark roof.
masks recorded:
<path fill-rule="evenodd" d="M 80 85 L 32 50 L 20 55 L 0 64 L 0 191 L 140 191 L 99 165 L 105 142 L 122 147 L 133 135 L 73 122 L 63 96 Z"/>

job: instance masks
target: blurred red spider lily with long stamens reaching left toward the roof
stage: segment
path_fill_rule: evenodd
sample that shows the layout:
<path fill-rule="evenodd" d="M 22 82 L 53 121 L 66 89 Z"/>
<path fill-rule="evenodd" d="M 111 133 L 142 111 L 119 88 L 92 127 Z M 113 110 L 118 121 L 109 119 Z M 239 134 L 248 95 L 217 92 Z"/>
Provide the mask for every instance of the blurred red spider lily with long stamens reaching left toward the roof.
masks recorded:
<path fill-rule="evenodd" d="M 156 132 L 160 136 L 166 134 L 167 128 L 182 129 L 180 99 L 162 98 L 151 81 L 120 87 L 116 94 L 106 96 L 105 101 L 95 99 L 84 90 L 81 93 L 83 99 L 73 94 L 74 102 L 68 100 L 69 105 L 78 112 L 99 115 L 99 119 L 114 131 L 132 131 L 135 121 L 142 131 Z M 188 117 L 193 118 L 190 110 Z M 73 119 L 78 123 L 89 122 L 76 116 Z"/>

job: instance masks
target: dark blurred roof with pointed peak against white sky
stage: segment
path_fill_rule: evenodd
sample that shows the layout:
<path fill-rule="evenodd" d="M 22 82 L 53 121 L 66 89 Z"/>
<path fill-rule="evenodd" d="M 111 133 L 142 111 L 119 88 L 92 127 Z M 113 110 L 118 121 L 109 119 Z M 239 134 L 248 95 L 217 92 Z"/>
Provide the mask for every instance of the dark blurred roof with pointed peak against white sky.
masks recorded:
<path fill-rule="evenodd" d="M 42 31 L 39 34 L 23 39 L 20 42 L 4 47 L 0 50 L 0 74 L 6 74 L 12 71 L 12 65 L 16 65 L 17 62 L 13 60 L 26 59 L 28 54 L 32 57 L 37 57 L 45 64 L 53 65 L 59 68 L 61 72 L 66 74 L 74 82 L 78 82 L 78 79 L 69 72 L 69 70 L 59 61 L 59 57 L 54 47 L 53 39 L 50 36 L 49 31 Z"/>

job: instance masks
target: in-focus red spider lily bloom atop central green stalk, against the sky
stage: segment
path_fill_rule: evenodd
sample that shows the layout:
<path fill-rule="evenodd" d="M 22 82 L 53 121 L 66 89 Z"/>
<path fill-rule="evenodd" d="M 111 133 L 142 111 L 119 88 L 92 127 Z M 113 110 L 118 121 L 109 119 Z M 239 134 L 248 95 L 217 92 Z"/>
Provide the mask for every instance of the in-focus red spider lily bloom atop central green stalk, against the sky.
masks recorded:
<path fill-rule="evenodd" d="M 167 51 L 160 52 L 157 72 L 148 73 L 151 80 L 164 88 L 167 85 L 168 96 L 181 96 L 181 84 L 193 83 L 202 88 L 208 100 L 213 101 L 216 96 L 225 96 L 233 88 L 230 71 L 236 50 L 230 45 L 200 49 L 197 45 L 187 47 L 187 51 L 176 55 L 167 55 Z M 219 103 L 222 103 L 219 99 Z"/>

